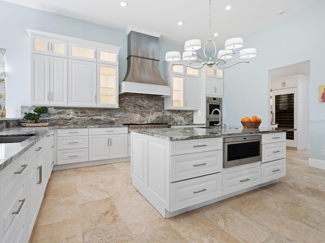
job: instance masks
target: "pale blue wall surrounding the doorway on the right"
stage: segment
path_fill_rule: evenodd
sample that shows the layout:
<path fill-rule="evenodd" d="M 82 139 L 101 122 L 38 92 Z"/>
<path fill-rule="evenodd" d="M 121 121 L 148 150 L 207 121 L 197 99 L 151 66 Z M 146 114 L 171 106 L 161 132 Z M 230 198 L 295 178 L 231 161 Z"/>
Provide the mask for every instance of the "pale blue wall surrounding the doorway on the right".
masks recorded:
<path fill-rule="evenodd" d="M 318 101 L 318 86 L 325 84 L 323 68 L 325 32 L 325 1 L 286 20 L 244 38 L 245 47 L 256 47 L 258 56 L 250 64 L 225 70 L 224 123 L 240 125 L 241 117 L 263 116 L 261 126 L 267 127 L 269 77 L 271 69 L 310 60 L 309 122 L 310 158 L 324 160 L 325 104 Z M 325 161 L 324 161 L 325 163 Z"/>

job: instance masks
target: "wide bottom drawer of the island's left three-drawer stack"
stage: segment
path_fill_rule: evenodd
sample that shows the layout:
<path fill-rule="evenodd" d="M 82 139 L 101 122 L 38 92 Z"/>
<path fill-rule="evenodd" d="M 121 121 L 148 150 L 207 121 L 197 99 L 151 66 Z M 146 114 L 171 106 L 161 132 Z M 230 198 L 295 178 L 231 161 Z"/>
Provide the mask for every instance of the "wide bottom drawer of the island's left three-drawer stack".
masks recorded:
<path fill-rule="evenodd" d="M 170 212 L 221 196 L 221 173 L 170 184 Z"/>

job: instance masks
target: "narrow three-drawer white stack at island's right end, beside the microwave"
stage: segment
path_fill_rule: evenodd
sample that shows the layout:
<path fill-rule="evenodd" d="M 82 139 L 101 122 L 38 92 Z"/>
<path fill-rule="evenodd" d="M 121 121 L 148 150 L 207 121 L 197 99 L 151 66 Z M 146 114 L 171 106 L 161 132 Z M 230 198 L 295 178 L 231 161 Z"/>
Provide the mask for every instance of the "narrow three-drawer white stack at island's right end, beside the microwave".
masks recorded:
<path fill-rule="evenodd" d="M 285 176 L 285 133 L 262 134 L 262 183 Z"/>

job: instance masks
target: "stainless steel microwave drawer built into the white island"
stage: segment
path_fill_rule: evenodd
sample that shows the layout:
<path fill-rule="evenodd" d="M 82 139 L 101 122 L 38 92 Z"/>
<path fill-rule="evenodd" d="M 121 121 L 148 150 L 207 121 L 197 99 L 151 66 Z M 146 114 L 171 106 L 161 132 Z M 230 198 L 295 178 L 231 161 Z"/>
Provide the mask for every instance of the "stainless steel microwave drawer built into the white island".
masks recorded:
<path fill-rule="evenodd" d="M 223 138 L 223 168 L 262 160 L 261 135 Z"/>

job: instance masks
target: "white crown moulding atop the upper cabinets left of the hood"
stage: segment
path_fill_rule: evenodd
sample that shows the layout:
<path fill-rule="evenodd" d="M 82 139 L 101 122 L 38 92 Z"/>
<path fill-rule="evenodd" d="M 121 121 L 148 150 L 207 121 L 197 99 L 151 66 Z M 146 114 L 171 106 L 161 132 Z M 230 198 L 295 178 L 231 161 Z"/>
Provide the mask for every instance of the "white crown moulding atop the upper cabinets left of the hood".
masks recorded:
<path fill-rule="evenodd" d="M 106 48 L 106 49 L 112 49 L 115 51 L 119 51 L 121 49 L 121 47 L 111 46 L 108 44 L 86 41 L 84 39 L 78 39 L 78 38 L 74 38 L 74 37 L 70 37 L 70 36 L 48 33 L 48 32 L 34 30 L 34 29 L 27 29 L 27 32 L 28 32 L 29 36 L 32 34 L 41 35 L 41 36 L 48 37 L 48 38 L 61 39 L 62 41 L 74 42 L 74 43 L 79 43 L 79 44 L 84 44 L 84 45 L 89 45 L 89 46 L 94 46 L 94 47 L 101 47 L 101 48 Z"/>

